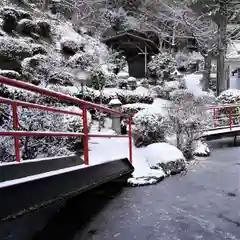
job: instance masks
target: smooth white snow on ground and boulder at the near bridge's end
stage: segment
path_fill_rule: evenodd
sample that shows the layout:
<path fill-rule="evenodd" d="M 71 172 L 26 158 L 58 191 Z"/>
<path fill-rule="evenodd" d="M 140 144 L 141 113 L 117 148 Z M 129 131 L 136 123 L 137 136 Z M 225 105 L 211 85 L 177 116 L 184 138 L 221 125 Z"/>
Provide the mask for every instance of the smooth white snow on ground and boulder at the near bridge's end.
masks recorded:
<path fill-rule="evenodd" d="M 115 135 L 114 131 L 109 129 L 105 129 L 101 133 L 94 132 L 93 134 Z M 127 137 L 91 138 L 89 140 L 90 165 L 119 158 L 129 158 L 128 146 L 129 142 Z M 161 151 L 158 148 L 160 148 Z M 164 157 L 166 157 L 166 159 Z M 155 184 L 166 177 L 166 173 L 160 167 L 158 169 L 151 169 L 153 163 L 164 162 L 166 164 L 168 161 L 174 161 L 182 157 L 183 155 L 178 149 L 167 143 L 153 144 L 153 146 L 150 145 L 146 148 L 136 148 L 133 145 L 133 166 L 135 171 L 132 177 L 128 179 L 128 183 L 132 186 Z M 157 159 L 159 159 L 159 161 Z"/>

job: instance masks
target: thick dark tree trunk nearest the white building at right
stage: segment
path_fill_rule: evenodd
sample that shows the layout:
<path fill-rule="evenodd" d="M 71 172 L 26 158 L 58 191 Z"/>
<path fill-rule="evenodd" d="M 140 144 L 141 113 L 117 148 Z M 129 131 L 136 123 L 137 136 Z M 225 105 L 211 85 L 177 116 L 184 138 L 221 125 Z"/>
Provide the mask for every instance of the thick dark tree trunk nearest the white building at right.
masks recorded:
<path fill-rule="evenodd" d="M 217 59 L 217 95 L 224 90 L 227 90 L 227 82 L 225 75 L 225 55 L 226 55 L 226 33 L 227 33 L 227 10 L 226 3 L 220 4 L 220 10 L 223 15 L 218 22 L 218 51 L 219 56 Z"/>

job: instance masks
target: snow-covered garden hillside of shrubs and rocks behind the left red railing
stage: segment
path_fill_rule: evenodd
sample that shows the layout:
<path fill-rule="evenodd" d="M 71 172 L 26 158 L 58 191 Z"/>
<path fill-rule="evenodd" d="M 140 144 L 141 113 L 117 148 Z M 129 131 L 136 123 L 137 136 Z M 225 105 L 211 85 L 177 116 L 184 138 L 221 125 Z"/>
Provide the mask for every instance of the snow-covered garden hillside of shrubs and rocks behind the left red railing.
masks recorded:
<path fill-rule="evenodd" d="M 133 165 L 129 184 L 154 184 L 187 169 L 195 156 L 208 156 L 199 140 L 209 116 L 203 108 L 213 103 L 237 103 L 239 91 L 228 90 L 217 99 L 202 91 L 202 74 L 187 73 L 202 56 L 175 56 L 162 52 L 148 63 L 149 77 L 129 76 L 126 58 L 109 49 L 84 28 L 39 10 L 24 11 L 10 3 L 0 14 L 0 75 L 108 106 L 113 99 L 133 117 Z M 184 73 L 180 69 L 185 69 Z M 61 109 L 79 106 L 0 85 L 0 96 Z M 238 111 L 238 109 L 237 109 Z M 113 133 L 110 116 L 98 126 L 100 114 L 90 110 L 90 132 Z M 222 114 L 222 113 L 221 113 Z M 223 113 L 224 114 L 224 113 Z M 11 109 L 0 105 L 0 130 L 12 129 Z M 40 110 L 19 108 L 19 128 L 24 131 L 82 131 L 82 120 Z M 99 132 L 100 130 L 100 132 Z M 128 157 L 128 139 L 90 140 L 90 164 Z M 36 159 L 82 154 L 81 138 L 20 138 L 21 158 Z M 0 137 L 0 159 L 14 161 L 13 139 Z M 111 151 L 109 151 L 111 149 Z"/>

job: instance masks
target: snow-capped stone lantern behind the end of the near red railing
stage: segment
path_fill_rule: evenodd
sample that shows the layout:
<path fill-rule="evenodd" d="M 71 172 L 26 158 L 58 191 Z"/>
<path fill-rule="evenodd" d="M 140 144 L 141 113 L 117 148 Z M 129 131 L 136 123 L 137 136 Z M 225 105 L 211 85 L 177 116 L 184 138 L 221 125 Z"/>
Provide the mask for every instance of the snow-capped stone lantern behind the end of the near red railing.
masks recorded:
<path fill-rule="evenodd" d="M 115 111 L 120 111 L 122 103 L 118 98 L 114 98 L 109 102 L 108 106 Z M 112 129 L 117 134 L 121 134 L 121 116 L 112 114 L 111 117 L 112 117 Z"/>

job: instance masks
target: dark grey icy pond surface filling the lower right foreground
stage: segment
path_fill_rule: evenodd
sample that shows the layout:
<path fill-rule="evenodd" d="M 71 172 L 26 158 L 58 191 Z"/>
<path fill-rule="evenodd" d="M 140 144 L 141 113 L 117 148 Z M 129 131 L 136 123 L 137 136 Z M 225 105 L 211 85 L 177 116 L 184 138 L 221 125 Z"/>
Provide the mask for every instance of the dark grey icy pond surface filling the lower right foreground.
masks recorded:
<path fill-rule="evenodd" d="M 186 175 L 126 188 L 74 240 L 240 240 L 240 147 L 215 149 Z"/>

